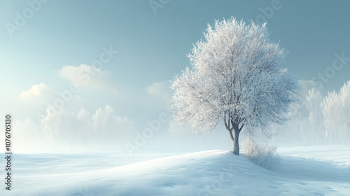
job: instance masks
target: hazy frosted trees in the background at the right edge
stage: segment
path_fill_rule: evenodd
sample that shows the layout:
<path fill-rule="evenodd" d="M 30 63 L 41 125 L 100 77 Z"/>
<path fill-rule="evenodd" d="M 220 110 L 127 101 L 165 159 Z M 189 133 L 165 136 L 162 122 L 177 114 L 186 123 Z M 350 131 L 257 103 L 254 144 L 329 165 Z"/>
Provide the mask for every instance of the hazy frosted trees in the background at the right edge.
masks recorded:
<path fill-rule="evenodd" d="M 274 137 L 276 143 L 297 145 L 341 145 L 350 142 L 350 81 L 338 91 L 321 94 L 304 86 L 297 110 L 286 125 L 275 130 L 286 130 Z"/>

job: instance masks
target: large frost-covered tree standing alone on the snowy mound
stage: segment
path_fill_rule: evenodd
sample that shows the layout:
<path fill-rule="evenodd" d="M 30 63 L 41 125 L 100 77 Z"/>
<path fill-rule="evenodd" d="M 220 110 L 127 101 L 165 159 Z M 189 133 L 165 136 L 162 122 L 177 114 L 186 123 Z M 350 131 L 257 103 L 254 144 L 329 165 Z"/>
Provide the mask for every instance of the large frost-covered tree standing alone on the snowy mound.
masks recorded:
<path fill-rule="evenodd" d="M 270 41 L 265 25 L 216 20 L 188 55 L 191 69 L 172 81 L 174 120 L 199 134 L 223 122 L 235 155 L 241 130 L 268 133 L 270 123 L 284 123 L 300 90 L 282 67 L 286 52 Z"/>

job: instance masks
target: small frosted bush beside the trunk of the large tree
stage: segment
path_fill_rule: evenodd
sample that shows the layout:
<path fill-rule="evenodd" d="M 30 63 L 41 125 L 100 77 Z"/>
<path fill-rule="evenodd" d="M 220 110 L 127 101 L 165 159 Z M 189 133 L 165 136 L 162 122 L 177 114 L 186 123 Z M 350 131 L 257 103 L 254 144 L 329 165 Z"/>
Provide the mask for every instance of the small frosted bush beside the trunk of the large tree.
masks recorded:
<path fill-rule="evenodd" d="M 282 160 L 276 146 L 262 146 L 253 141 L 244 141 L 242 145 L 248 159 L 265 169 L 271 169 Z"/>

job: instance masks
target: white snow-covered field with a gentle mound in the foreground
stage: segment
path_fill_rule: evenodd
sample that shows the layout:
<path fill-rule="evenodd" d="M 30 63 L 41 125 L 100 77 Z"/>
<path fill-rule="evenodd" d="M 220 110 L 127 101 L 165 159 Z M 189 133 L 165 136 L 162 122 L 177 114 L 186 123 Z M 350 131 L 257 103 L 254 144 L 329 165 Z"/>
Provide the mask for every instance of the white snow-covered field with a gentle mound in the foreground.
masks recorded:
<path fill-rule="evenodd" d="M 350 147 L 279 148 L 267 170 L 243 153 L 14 154 L 0 195 L 350 195 Z"/>

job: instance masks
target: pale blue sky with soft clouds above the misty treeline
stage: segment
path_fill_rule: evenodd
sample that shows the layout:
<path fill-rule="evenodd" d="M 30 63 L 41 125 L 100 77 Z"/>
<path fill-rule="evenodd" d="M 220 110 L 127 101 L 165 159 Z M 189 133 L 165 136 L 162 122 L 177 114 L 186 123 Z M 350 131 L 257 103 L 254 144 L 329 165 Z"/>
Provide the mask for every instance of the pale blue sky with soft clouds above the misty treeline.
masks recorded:
<path fill-rule="evenodd" d="M 266 8 L 274 13 L 265 17 Z M 310 80 L 329 71 L 335 53 L 350 57 L 349 8 L 350 1 L 170 0 L 155 14 L 149 1 L 51 0 L 41 3 L 22 27 L 9 32 L 8 24 L 16 25 L 16 13 L 23 15 L 27 10 L 30 14 L 31 7 L 27 1 L 3 0 L 1 113 L 18 118 L 43 113 L 45 102 L 57 98 L 58 90 L 69 89 L 72 78 L 59 76 L 64 66 L 92 65 L 104 52 L 102 47 L 111 47 L 118 54 L 66 109 L 92 111 L 110 104 L 118 115 L 135 121 L 155 118 L 165 109 L 171 93 L 166 81 L 190 66 L 186 54 L 203 37 L 207 23 L 231 16 L 246 22 L 268 18 L 271 38 L 290 52 L 288 69 L 300 79 Z M 323 92 L 339 90 L 350 80 L 350 60 L 345 62 L 335 76 L 323 82 Z M 38 94 L 30 95 L 35 91 L 31 87 L 41 83 Z M 21 92 L 30 89 L 27 97 L 22 94 L 20 98 Z"/>

